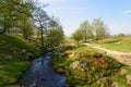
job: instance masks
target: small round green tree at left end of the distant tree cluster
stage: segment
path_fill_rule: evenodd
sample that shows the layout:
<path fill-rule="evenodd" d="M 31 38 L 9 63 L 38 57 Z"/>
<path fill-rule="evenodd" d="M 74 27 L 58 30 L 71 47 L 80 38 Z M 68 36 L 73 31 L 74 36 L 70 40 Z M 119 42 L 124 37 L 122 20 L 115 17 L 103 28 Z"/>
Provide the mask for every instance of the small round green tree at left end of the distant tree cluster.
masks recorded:
<path fill-rule="evenodd" d="M 75 33 L 73 33 L 72 38 L 78 41 L 78 45 L 80 40 L 83 39 L 83 34 L 81 29 L 76 29 Z"/>

